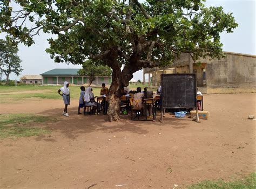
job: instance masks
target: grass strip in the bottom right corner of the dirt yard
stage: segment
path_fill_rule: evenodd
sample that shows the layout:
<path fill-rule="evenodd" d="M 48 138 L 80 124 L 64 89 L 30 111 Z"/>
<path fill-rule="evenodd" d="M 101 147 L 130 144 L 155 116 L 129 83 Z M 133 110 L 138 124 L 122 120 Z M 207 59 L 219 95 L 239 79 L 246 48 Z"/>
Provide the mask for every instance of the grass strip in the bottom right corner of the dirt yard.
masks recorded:
<path fill-rule="evenodd" d="M 249 176 L 245 177 L 242 180 L 235 180 L 235 181 L 224 181 L 224 180 L 217 180 L 217 181 L 202 181 L 200 183 L 194 184 L 188 189 L 241 189 L 241 188 L 256 188 L 256 173 L 252 173 Z"/>

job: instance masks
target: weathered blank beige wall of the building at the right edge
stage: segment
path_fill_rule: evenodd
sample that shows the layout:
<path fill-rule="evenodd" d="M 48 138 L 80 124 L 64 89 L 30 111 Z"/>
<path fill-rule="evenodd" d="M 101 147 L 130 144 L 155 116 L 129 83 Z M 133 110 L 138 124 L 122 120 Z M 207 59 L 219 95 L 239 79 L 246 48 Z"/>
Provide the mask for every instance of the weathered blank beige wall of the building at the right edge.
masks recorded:
<path fill-rule="evenodd" d="M 255 73 L 255 56 L 226 54 L 221 60 L 207 63 L 207 93 L 256 92 Z"/>

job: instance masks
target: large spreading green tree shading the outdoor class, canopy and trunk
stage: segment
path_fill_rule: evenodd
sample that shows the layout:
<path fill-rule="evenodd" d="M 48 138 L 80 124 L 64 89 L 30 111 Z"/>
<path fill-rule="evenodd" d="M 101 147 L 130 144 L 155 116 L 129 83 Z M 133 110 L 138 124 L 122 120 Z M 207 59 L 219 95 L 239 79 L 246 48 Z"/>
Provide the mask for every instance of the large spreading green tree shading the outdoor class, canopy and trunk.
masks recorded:
<path fill-rule="evenodd" d="M 26 45 L 39 31 L 57 34 L 47 50 L 57 62 L 83 64 L 89 58 L 112 68 L 110 120 L 119 120 L 120 89 L 143 67 L 167 66 L 180 53 L 223 56 L 220 33 L 237 27 L 232 13 L 206 8 L 204 0 L 4 1 L 0 26 Z M 35 25 L 26 27 L 23 20 Z M 25 21 L 26 22 L 26 21 Z"/>

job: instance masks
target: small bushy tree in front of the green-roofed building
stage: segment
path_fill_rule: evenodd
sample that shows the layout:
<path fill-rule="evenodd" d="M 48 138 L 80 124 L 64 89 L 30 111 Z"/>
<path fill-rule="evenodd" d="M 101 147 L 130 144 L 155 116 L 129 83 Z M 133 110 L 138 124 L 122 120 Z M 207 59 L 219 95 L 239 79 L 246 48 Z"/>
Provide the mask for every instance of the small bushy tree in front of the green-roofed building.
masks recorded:
<path fill-rule="evenodd" d="M 79 75 L 89 76 L 89 87 L 92 81 L 95 81 L 96 76 L 111 76 L 112 71 L 108 66 L 98 65 L 95 61 L 86 60 L 83 69 L 80 69 L 78 73 Z"/>

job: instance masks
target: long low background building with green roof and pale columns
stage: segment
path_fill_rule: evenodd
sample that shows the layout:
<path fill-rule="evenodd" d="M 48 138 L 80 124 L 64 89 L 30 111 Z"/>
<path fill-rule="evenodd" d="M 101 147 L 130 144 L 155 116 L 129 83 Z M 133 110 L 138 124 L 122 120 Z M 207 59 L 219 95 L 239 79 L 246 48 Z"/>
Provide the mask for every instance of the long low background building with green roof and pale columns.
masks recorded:
<path fill-rule="evenodd" d="M 89 76 L 82 76 L 78 74 L 79 69 L 52 69 L 48 72 L 42 73 L 42 84 L 62 85 L 68 81 L 74 85 L 84 85 L 89 83 Z M 96 80 L 92 82 L 93 85 L 101 85 L 106 83 L 110 85 L 112 76 L 96 76 Z"/>

